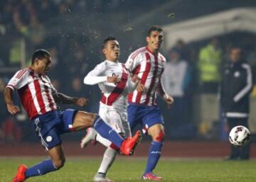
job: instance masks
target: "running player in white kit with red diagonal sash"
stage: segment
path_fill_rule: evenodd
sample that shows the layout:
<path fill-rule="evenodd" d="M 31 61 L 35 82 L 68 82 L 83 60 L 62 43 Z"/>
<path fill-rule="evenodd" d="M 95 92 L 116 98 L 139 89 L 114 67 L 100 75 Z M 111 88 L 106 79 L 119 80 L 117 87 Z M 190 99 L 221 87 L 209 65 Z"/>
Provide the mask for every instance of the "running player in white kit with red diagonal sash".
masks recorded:
<path fill-rule="evenodd" d="M 85 76 L 84 83 L 99 85 L 103 94 L 100 101 L 100 117 L 116 132 L 127 138 L 131 136 L 127 121 L 127 95 L 136 89 L 139 79 L 136 75 L 131 78 L 124 64 L 119 63 L 119 43 L 115 38 L 108 37 L 104 40 L 102 52 L 106 60 Z M 114 84 L 112 80 L 114 80 Z M 100 169 L 93 180 L 97 182 L 111 181 L 106 177 L 106 174 L 117 155 L 117 147 L 103 139 L 93 128 L 82 140 L 81 147 L 85 147 L 85 144 L 89 142 L 88 137 L 90 140 L 96 139 L 107 146 Z"/>

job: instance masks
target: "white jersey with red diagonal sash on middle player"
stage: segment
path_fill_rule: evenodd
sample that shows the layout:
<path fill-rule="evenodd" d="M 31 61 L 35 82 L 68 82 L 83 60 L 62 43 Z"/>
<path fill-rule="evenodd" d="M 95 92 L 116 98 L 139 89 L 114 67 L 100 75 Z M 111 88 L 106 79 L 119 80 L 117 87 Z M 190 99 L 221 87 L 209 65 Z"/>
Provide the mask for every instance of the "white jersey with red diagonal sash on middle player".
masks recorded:
<path fill-rule="evenodd" d="M 107 82 L 107 76 L 118 75 L 121 81 L 115 85 Z M 126 108 L 127 95 L 134 91 L 136 84 L 131 81 L 130 75 L 124 64 L 105 60 L 85 76 L 85 84 L 98 84 L 102 91 L 101 106 Z M 103 104 L 103 105 L 102 105 Z"/>

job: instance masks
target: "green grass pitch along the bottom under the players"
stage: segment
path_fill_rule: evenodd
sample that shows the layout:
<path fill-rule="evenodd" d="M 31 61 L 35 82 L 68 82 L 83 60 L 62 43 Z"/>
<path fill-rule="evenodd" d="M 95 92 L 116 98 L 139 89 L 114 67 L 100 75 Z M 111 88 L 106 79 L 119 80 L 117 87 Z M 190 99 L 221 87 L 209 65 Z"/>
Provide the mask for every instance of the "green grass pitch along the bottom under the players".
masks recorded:
<path fill-rule="evenodd" d="M 31 166 L 41 158 L 0 158 L 0 181 L 9 182 L 18 164 Z M 108 177 L 116 182 L 140 181 L 146 159 L 119 158 Z M 45 176 L 28 178 L 28 182 L 92 181 L 100 159 L 68 158 L 63 169 Z M 255 182 L 256 161 L 220 161 L 218 159 L 161 159 L 156 174 L 170 182 Z"/>

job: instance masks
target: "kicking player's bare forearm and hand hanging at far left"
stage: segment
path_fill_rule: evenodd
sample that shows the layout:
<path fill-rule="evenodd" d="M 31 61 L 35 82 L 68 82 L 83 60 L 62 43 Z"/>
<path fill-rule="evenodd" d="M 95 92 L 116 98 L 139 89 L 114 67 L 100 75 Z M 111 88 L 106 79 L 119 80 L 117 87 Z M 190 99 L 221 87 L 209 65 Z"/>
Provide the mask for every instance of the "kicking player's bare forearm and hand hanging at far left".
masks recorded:
<path fill-rule="evenodd" d="M 12 115 L 16 115 L 16 113 L 20 112 L 20 108 L 14 105 L 14 101 L 12 98 L 13 91 L 10 88 L 6 88 L 4 91 L 4 100 L 6 102 L 6 107 L 9 113 Z"/>

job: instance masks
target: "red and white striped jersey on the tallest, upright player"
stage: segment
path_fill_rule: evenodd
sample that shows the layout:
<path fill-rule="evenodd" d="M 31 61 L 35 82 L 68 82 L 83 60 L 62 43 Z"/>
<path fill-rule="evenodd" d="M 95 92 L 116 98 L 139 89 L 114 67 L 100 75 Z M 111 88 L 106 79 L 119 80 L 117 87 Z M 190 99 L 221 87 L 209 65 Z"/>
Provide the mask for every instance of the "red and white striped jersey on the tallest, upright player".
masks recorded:
<path fill-rule="evenodd" d="M 129 55 L 125 66 L 133 74 L 137 74 L 144 85 L 143 93 L 135 90 L 129 93 L 128 102 L 146 106 L 156 105 L 156 91 L 161 82 L 164 72 L 166 58 L 160 53 L 154 54 L 147 47 L 139 48 Z"/>

